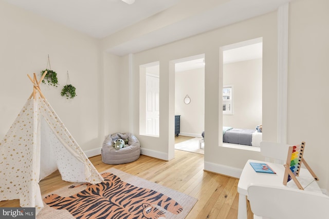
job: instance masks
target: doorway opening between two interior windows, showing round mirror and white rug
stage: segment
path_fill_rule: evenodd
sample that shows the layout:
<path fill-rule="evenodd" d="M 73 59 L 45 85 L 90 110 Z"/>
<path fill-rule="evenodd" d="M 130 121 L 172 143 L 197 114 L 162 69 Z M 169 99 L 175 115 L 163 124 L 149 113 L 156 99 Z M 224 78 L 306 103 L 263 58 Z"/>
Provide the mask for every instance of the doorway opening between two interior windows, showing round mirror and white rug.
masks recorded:
<path fill-rule="evenodd" d="M 205 55 L 200 54 L 175 61 L 175 139 L 187 139 L 175 149 L 204 154 L 204 144 L 199 147 L 204 128 Z"/>

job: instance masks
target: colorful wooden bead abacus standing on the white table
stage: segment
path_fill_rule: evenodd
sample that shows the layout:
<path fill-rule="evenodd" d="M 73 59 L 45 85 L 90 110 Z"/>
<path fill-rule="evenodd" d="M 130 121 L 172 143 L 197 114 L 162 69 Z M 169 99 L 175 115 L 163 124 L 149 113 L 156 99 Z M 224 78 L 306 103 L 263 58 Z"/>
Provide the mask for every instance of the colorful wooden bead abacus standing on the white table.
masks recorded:
<path fill-rule="evenodd" d="M 318 177 L 313 172 L 313 170 L 308 166 L 306 161 L 303 158 L 303 153 L 305 150 L 305 142 L 302 142 L 300 145 L 290 146 L 288 149 L 287 162 L 283 166 L 285 167 L 283 185 L 287 185 L 290 180 L 293 180 L 297 187 L 301 190 L 304 190 L 302 185 L 297 180 L 296 176 L 299 175 L 300 167 L 302 163 L 305 165 L 306 169 L 312 174 L 315 181 L 318 181 Z"/>

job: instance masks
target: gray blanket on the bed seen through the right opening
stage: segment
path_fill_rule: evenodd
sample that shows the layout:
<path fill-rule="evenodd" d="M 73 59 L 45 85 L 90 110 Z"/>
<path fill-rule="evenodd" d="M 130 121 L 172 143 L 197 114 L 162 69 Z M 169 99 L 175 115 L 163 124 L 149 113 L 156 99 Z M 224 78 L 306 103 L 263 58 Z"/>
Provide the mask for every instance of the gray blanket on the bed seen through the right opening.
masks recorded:
<path fill-rule="evenodd" d="M 223 135 L 223 142 L 251 146 L 253 132 L 255 132 L 255 130 L 251 130 L 251 129 L 227 130 Z"/>

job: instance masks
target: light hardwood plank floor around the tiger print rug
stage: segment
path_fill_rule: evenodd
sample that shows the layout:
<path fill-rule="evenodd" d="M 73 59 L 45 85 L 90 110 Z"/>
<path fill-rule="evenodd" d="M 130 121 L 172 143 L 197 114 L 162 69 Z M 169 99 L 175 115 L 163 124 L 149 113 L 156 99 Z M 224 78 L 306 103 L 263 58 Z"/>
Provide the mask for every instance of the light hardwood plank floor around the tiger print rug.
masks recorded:
<path fill-rule="evenodd" d="M 179 137 L 175 137 L 175 140 Z M 177 141 L 180 140 L 181 138 L 177 139 Z M 99 172 L 114 167 L 196 197 L 198 201 L 186 217 L 187 219 L 237 218 L 239 179 L 204 171 L 203 154 L 175 150 L 175 158 L 171 161 L 141 155 L 135 162 L 120 165 L 104 164 L 100 155 L 89 159 Z M 43 195 L 70 184 L 61 180 L 58 171 L 39 183 Z M 19 201 L 2 201 L 0 207 L 19 207 Z M 253 217 L 249 205 L 247 208 L 248 219 L 251 219 Z"/>

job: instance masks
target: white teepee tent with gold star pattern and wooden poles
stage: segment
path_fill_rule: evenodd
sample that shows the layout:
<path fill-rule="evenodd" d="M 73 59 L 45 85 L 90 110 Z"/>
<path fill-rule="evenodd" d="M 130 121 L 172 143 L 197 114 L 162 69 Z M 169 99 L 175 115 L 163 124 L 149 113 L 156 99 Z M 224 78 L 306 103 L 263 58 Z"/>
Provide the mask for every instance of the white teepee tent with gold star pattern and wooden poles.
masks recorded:
<path fill-rule="evenodd" d="M 56 171 L 68 182 L 103 181 L 40 90 L 33 93 L 0 142 L 0 201 L 19 199 L 21 207 L 43 207 L 39 181 Z"/>

